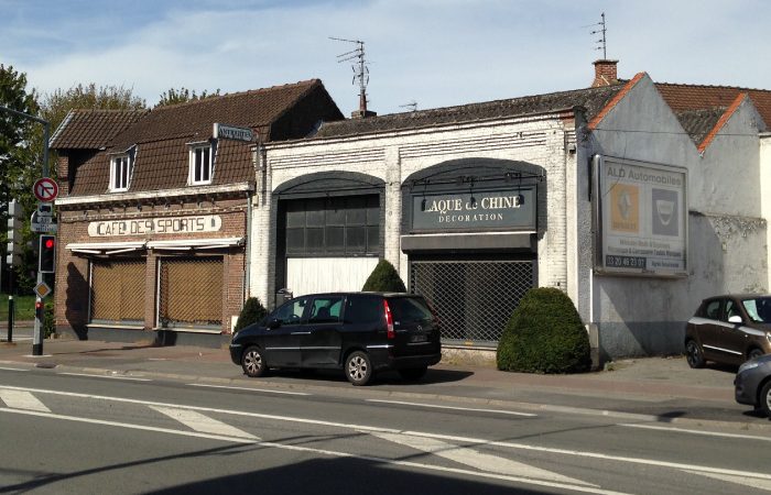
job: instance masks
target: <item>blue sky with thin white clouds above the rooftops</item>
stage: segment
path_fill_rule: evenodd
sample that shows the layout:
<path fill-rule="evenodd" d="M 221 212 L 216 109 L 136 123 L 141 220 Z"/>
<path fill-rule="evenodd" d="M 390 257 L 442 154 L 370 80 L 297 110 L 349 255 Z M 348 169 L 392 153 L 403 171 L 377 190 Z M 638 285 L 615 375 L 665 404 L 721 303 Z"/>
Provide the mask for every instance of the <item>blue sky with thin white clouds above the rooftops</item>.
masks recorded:
<path fill-rule="evenodd" d="M 0 64 L 42 95 L 96 82 L 149 106 L 318 78 L 347 116 L 356 45 L 329 37 L 360 40 L 387 114 L 588 87 L 601 13 L 621 78 L 771 89 L 765 0 L 0 0 Z"/>

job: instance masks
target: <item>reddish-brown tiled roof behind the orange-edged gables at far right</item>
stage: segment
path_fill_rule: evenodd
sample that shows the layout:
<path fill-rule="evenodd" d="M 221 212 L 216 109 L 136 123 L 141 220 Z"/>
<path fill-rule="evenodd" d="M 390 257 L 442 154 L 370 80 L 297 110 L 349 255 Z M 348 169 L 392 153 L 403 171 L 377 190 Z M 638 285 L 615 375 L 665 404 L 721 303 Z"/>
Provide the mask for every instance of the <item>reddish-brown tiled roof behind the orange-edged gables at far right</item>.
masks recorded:
<path fill-rule="evenodd" d="M 771 90 L 730 86 L 698 86 L 656 82 L 656 89 L 675 113 L 692 110 L 727 109 L 746 92 L 767 125 L 771 125 Z"/>

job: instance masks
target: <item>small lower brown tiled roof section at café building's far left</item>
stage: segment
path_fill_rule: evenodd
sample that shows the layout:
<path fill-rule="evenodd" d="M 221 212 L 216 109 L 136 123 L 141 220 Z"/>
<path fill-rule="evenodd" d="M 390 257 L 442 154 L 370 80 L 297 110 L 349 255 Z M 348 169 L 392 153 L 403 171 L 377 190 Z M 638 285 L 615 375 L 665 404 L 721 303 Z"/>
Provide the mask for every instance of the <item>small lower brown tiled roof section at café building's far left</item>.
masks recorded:
<path fill-rule="evenodd" d="M 70 110 L 51 138 L 52 150 L 99 150 L 148 110 Z"/>

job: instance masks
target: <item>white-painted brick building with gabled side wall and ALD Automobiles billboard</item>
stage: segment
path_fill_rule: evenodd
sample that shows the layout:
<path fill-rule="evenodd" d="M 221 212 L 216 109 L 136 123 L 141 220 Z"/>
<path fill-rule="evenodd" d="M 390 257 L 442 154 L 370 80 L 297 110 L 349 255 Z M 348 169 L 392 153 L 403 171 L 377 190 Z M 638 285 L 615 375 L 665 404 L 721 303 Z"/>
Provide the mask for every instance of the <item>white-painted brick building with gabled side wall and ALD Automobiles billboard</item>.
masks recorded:
<path fill-rule="evenodd" d="M 359 112 L 260 146 L 253 229 L 274 234 L 251 293 L 357 290 L 384 257 L 447 352 L 493 350 L 535 286 L 571 296 L 598 359 L 682 352 L 702 298 L 769 290 L 771 91 L 619 80 L 616 64 L 585 89 Z"/>

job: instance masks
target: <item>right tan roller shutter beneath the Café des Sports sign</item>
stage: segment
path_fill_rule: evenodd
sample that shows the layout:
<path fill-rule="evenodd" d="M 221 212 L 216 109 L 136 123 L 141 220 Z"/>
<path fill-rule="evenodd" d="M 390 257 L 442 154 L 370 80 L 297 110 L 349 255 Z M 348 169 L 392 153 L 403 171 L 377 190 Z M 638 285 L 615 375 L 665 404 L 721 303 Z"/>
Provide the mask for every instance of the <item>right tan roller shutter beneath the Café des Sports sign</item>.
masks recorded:
<path fill-rule="evenodd" d="M 159 326 L 219 330 L 222 326 L 222 258 L 162 258 Z"/>

